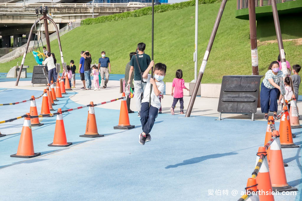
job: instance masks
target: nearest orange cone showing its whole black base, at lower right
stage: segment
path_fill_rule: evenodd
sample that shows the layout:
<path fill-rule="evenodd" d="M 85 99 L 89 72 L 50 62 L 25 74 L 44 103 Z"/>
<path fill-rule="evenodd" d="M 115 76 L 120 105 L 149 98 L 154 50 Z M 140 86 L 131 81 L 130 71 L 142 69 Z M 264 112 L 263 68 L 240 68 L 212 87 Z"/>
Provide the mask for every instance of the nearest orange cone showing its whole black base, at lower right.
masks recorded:
<path fill-rule="evenodd" d="M 279 136 L 277 130 L 273 135 Z M 283 165 L 283 156 L 279 137 L 271 143 L 271 156 L 268 161 L 268 167 L 271 175 L 271 184 L 274 191 L 296 191 L 295 187 L 288 185 L 286 181 L 285 169 Z"/>

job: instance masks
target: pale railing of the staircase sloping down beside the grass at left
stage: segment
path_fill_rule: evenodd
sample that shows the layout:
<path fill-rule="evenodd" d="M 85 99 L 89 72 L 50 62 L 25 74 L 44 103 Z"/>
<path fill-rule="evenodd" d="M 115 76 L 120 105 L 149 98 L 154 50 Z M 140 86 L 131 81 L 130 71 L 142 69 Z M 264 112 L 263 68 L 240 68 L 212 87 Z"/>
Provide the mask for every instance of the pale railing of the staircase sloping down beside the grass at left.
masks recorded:
<path fill-rule="evenodd" d="M 76 27 L 80 27 L 80 26 L 81 26 L 81 21 L 72 22 L 71 25 L 63 27 L 62 29 L 59 30 L 59 36 L 62 36 L 65 33 L 69 32 L 70 30 L 75 29 Z M 56 32 L 49 35 L 49 40 L 50 41 L 53 41 L 55 39 L 57 39 Z M 43 42 L 43 44 L 46 44 L 46 38 L 43 38 L 42 42 Z M 41 46 L 41 44 L 42 43 L 40 42 L 39 45 Z M 26 45 L 27 44 L 24 44 L 23 46 L 20 46 L 18 49 L 15 49 L 15 50 L 11 51 L 10 53 L 8 53 L 8 54 L 4 55 L 3 57 L 1 57 L 0 58 L 0 63 L 5 63 L 7 61 L 11 61 L 11 60 L 23 55 L 24 51 L 26 50 Z M 37 45 L 38 45 L 37 41 L 29 42 L 29 47 L 28 47 L 29 51 L 28 52 L 31 52 L 32 48 L 36 47 Z"/>

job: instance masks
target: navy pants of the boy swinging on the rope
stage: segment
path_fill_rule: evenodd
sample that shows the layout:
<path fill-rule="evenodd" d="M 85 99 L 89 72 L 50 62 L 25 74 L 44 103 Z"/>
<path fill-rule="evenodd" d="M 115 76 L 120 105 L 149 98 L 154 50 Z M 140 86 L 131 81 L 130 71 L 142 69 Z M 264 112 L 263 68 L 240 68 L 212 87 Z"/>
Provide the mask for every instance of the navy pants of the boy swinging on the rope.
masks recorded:
<path fill-rule="evenodd" d="M 149 102 L 142 102 L 142 107 L 140 108 L 140 122 L 142 123 L 143 132 L 148 134 L 154 125 L 155 118 L 158 114 L 158 108 L 150 105 Z"/>

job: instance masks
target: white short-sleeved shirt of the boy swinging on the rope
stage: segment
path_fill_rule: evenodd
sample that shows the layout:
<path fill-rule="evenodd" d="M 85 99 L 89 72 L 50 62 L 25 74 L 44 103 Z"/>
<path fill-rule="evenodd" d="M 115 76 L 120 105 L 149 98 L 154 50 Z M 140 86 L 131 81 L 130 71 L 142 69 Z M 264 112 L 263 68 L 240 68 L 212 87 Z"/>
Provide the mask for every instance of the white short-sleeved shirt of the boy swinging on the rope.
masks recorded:
<path fill-rule="evenodd" d="M 145 79 L 143 78 L 143 81 L 144 82 L 147 82 L 146 83 L 146 87 L 145 87 L 145 90 L 144 90 L 144 93 L 143 93 L 143 100 L 142 102 L 149 102 L 149 96 L 150 96 L 150 79 L 151 79 L 151 75 L 148 74 L 148 78 Z M 155 82 L 156 83 L 156 86 L 158 88 L 158 90 L 160 91 L 159 94 L 162 94 L 165 90 L 165 83 L 164 81 L 159 81 L 159 82 Z M 152 85 L 152 88 L 153 88 L 153 85 Z M 160 108 L 160 101 L 159 101 L 159 96 L 155 96 L 155 93 L 154 93 L 154 90 L 152 89 L 152 93 L 151 93 L 151 105 L 153 107 L 156 107 L 156 108 Z"/>

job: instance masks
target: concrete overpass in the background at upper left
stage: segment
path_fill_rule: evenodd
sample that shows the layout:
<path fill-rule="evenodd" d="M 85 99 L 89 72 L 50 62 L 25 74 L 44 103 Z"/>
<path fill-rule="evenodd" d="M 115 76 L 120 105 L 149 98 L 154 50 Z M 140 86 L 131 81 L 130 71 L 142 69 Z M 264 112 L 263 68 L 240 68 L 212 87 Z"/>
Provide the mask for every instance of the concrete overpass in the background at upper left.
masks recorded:
<path fill-rule="evenodd" d="M 77 21 L 86 19 L 88 17 L 99 17 L 102 15 L 110 15 L 115 13 L 122 13 L 126 11 L 134 11 L 139 8 L 151 6 L 150 3 L 108 3 L 108 4 L 24 4 L 24 3 L 0 3 L 0 36 L 2 36 L 2 47 L 11 46 L 11 36 L 14 38 L 14 47 L 20 46 L 18 40 L 22 39 L 22 35 L 28 33 L 37 15 L 35 8 L 40 6 L 48 6 L 49 14 L 56 22 L 58 27 L 65 27 L 69 21 Z M 43 22 L 41 21 L 41 30 L 43 29 Z M 49 27 L 50 33 L 54 32 L 53 27 Z M 32 39 L 34 36 L 31 36 Z"/>

